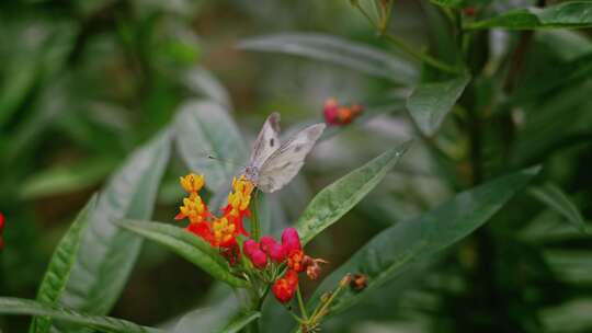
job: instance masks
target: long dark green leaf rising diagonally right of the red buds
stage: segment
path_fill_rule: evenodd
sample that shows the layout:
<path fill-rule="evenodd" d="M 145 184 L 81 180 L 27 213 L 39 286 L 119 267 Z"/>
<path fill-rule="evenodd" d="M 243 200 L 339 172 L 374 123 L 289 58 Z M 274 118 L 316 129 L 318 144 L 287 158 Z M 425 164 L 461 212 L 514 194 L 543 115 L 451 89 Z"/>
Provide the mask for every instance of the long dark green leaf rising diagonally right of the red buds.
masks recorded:
<path fill-rule="evenodd" d="M 482 226 L 538 170 L 526 169 L 465 191 L 418 219 L 396 223 L 378 233 L 321 283 L 309 308 L 312 309 L 320 295 L 333 289 L 345 274 L 362 273 L 367 276 L 367 287 L 361 292 L 343 292 L 331 313 L 354 306 L 367 292 L 407 272 L 413 263 L 446 249 Z"/>

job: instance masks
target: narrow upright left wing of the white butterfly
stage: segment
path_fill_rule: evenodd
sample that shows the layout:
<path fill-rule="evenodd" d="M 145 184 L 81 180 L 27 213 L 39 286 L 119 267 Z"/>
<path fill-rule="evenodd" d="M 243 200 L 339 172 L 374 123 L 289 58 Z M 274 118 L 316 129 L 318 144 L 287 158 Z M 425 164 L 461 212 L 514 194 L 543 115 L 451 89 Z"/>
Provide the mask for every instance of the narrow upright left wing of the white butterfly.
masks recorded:
<path fill-rule="evenodd" d="M 272 113 L 254 142 L 253 152 L 249 159 L 249 165 L 261 168 L 263 162 L 280 148 L 280 114 Z"/>

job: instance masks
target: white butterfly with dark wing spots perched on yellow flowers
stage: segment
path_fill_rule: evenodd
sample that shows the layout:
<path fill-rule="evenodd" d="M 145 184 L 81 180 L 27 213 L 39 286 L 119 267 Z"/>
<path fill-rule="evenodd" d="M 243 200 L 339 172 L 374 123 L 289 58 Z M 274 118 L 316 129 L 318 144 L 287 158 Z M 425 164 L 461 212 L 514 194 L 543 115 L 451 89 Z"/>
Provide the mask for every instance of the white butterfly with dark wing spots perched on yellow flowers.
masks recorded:
<path fill-rule="evenodd" d="M 244 175 L 266 193 L 284 187 L 300 171 L 325 127 L 325 124 L 308 126 L 281 143 L 280 114 L 272 113 L 257 137 Z"/>

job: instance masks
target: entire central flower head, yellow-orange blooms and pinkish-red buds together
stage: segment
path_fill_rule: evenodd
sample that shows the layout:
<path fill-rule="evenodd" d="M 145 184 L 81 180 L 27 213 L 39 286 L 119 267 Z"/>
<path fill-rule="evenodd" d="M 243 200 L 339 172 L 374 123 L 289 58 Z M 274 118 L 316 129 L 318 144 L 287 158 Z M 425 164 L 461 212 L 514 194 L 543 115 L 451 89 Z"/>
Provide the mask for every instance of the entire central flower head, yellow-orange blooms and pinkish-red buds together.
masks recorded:
<path fill-rule="evenodd" d="M 263 282 L 267 287 L 271 286 L 280 302 L 286 303 L 298 289 L 299 273 L 306 272 L 310 279 L 319 277 L 320 264 L 326 262 L 305 254 L 296 229 L 285 229 L 281 242 L 271 236 L 259 239 L 254 229 L 251 230 L 254 239 L 250 239 L 251 236 L 243 227 L 243 218 L 251 215 L 249 205 L 255 186 L 244 175 L 232 181 L 232 191 L 226 206 L 221 208 L 221 217 L 215 216 L 200 196 L 205 185 L 203 175 L 192 173 L 181 177 L 180 183 L 187 196 L 183 198 L 175 219 L 189 219 L 185 229 L 219 249 L 220 254 L 234 267 L 232 272 L 246 276 L 253 286 Z M 251 219 L 253 223 L 257 221 Z M 239 244 L 242 244 L 242 253 L 252 265 L 242 260 Z"/>

